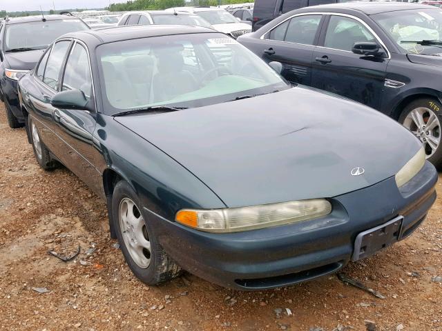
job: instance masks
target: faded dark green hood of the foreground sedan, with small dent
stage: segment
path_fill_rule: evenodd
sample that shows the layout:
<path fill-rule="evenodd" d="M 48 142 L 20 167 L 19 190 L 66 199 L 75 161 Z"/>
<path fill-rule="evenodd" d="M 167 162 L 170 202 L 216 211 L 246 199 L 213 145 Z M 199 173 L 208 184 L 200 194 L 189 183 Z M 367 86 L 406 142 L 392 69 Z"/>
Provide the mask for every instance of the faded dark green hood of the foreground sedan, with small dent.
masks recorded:
<path fill-rule="evenodd" d="M 394 176 L 421 147 L 385 115 L 301 87 L 115 120 L 181 163 L 229 207 L 365 188 Z M 365 172 L 352 176 L 355 167 Z"/>

